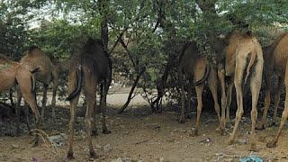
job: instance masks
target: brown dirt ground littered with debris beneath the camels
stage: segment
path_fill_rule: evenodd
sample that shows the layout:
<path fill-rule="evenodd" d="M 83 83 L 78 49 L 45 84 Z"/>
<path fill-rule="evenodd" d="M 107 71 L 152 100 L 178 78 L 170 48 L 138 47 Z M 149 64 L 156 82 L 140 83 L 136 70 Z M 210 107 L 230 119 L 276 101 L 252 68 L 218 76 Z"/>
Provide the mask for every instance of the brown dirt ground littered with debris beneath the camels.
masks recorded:
<path fill-rule="evenodd" d="M 126 101 L 127 94 L 110 94 L 108 97 L 108 127 L 111 134 L 101 132 L 101 122 L 98 122 L 99 135 L 93 138 L 97 159 L 88 157 L 88 146 L 85 136 L 83 116 L 84 108 L 78 108 L 76 115 L 76 137 L 74 161 L 239 161 L 241 157 L 255 155 L 265 161 L 288 161 L 288 132 L 285 127 L 279 139 L 277 148 L 266 148 L 266 142 L 273 138 L 277 127 L 257 131 L 258 152 L 247 150 L 251 122 L 244 117 L 238 130 L 238 140 L 233 145 L 227 145 L 229 135 L 221 136 L 216 131 L 218 120 L 216 113 L 202 113 L 200 135 L 193 137 L 193 119 L 184 124 L 177 122 L 175 108 L 165 108 L 159 114 L 150 112 L 148 104 L 136 97 L 130 107 L 122 114 L 117 109 Z M 0 122 L 0 161 L 66 161 L 69 110 L 68 103 L 58 103 L 57 121 L 50 120 L 50 108 L 47 109 L 44 125 L 41 127 L 49 137 L 61 135 L 62 140 L 52 145 L 44 136 L 40 146 L 31 147 L 29 142 L 33 136 L 26 135 L 26 124 L 22 123 L 22 135 L 13 137 L 15 119 L 4 119 Z M 212 108 L 211 108 L 212 109 Z M 98 119 L 101 117 L 98 114 Z M 56 146 L 53 148 L 53 146 Z"/>

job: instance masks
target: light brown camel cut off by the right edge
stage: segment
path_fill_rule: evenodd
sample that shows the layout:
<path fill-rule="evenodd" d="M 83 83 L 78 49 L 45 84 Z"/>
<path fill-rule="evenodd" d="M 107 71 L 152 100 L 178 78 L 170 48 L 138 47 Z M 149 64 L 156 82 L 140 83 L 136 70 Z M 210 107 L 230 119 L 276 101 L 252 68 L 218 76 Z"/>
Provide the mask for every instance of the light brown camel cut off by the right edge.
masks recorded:
<path fill-rule="evenodd" d="M 287 33 L 284 33 L 284 36 L 282 37 L 281 40 L 278 41 L 277 45 L 275 46 L 274 50 L 274 58 L 275 58 L 275 72 L 277 76 L 282 76 L 284 79 L 284 85 L 285 85 L 285 91 L 286 91 L 286 96 L 285 96 L 285 104 L 284 104 L 284 112 L 282 113 L 282 118 L 280 122 L 279 129 L 277 130 L 275 134 L 275 138 L 271 140 L 270 142 L 267 143 L 268 148 L 273 148 L 276 147 L 277 141 L 279 139 L 280 133 L 284 128 L 285 121 L 287 120 L 288 117 L 288 35 Z M 280 81 L 281 82 L 281 81 Z M 276 96 L 277 100 L 278 96 Z M 276 101 L 279 102 L 279 101 Z"/>

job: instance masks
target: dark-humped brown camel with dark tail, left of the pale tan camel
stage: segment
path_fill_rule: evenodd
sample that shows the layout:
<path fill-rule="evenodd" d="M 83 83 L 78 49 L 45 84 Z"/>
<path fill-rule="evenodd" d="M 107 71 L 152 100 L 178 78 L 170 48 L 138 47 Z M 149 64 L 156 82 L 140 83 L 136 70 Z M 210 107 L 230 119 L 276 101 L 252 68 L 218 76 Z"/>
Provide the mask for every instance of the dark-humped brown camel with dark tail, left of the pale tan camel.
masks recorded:
<path fill-rule="evenodd" d="M 221 120 L 220 117 L 220 106 L 218 103 L 218 95 L 217 95 L 217 72 L 216 66 L 211 66 L 209 61 L 206 58 L 203 58 L 200 55 L 200 52 L 197 48 L 196 43 L 190 42 L 184 46 L 183 52 L 179 58 L 179 69 L 178 69 L 179 82 L 181 85 L 181 116 L 180 122 L 184 122 L 184 76 L 186 76 L 189 80 L 188 85 L 188 105 L 187 105 L 187 113 L 189 117 L 189 112 L 191 111 L 191 89 L 192 85 L 195 85 L 196 94 L 197 94 L 197 120 L 196 126 L 194 130 L 194 134 L 198 135 L 198 128 L 200 123 L 200 116 L 202 112 L 202 91 L 203 91 L 203 83 L 208 77 L 208 85 L 211 90 L 211 94 L 214 99 L 214 107 L 215 111 L 218 115 L 218 120 L 220 122 L 220 127 L 218 129 L 224 130 L 224 125 L 222 124 L 224 118 Z M 225 111 L 225 110 L 224 110 Z"/>

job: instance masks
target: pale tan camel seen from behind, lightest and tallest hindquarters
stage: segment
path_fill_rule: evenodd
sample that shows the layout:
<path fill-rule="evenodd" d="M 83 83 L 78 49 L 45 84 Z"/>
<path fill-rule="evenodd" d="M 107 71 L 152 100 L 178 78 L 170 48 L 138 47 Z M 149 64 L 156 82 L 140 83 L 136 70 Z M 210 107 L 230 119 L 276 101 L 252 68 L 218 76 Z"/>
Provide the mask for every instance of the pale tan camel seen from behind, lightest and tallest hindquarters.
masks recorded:
<path fill-rule="evenodd" d="M 250 83 L 250 90 L 252 94 L 252 134 L 250 150 L 257 150 L 256 147 L 256 121 L 257 121 L 257 100 L 262 82 L 263 72 L 263 53 L 259 42 L 255 36 L 252 36 L 250 32 L 235 31 L 229 35 L 229 45 L 224 49 L 225 65 L 224 69 L 219 71 L 225 71 L 225 76 L 231 77 L 229 87 L 233 87 L 233 82 L 237 93 L 237 105 L 236 121 L 232 134 L 229 137 L 229 144 L 232 144 L 235 140 L 235 135 L 238 130 L 238 124 L 243 114 L 243 88 L 242 85 L 246 85 L 247 81 Z M 250 75 L 250 73 L 252 73 Z M 219 73 L 221 85 L 225 85 L 224 73 Z M 246 74 L 246 75 L 245 75 Z M 245 77 L 244 77 L 245 75 Z M 244 78 L 243 78 L 244 77 Z M 222 89 L 224 89 L 222 87 Z M 225 92 L 225 91 L 224 91 Z M 223 93 L 223 92 L 222 92 Z M 230 95 L 230 93 L 228 93 Z M 230 96 L 228 96 L 230 98 Z M 224 102 L 226 102 L 224 100 Z M 222 105 L 225 103 L 222 103 Z"/>

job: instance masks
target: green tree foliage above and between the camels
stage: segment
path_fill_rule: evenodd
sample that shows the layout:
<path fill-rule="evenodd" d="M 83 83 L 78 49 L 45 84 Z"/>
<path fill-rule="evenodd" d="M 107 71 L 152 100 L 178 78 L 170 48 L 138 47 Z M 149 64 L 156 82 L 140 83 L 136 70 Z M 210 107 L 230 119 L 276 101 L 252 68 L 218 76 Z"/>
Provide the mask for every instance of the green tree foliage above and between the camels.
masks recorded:
<path fill-rule="evenodd" d="M 267 45 L 286 29 L 287 12 L 288 3 L 282 0 L 1 1 L 0 50 L 19 59 L 36 44 L 63 60 L 80 34 L 100 38 L 101 24 L 107 20 L 113 72 L 133 81 L 145 68 L 139 87 L 151 101 L 171 58 L 166 83 L 175 90 L 175 67 L 185 41 L 196 41 L 202 54 L 211 57 L 207 36 L 247 27 Z"/>

